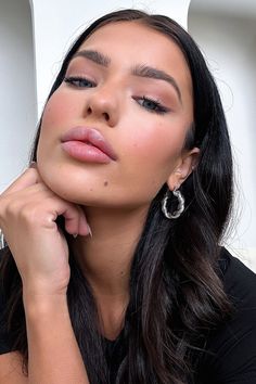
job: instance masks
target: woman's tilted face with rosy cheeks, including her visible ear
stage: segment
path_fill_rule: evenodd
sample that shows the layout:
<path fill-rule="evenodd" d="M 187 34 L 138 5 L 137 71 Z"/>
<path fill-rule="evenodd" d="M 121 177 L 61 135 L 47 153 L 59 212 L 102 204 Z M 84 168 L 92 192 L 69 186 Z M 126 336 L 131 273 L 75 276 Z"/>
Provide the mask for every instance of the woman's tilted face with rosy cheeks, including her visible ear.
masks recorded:
<path fill-rule="evenodd" d="M 148 206 L 191 171 L 196 150 L 182 148 L 192 121 L 191 76 L 176 43 L 138 22 L 108 24 L 82 43 L 46 106 L 38 169 L 71 202 Z"/>

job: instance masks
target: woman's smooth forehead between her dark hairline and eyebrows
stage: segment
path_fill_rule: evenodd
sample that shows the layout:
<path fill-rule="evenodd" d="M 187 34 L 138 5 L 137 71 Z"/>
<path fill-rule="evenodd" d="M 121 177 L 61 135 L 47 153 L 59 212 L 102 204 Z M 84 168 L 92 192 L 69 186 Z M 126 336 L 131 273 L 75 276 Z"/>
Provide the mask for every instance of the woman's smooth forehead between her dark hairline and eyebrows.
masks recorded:
<path fill-rule="evenodd" d="M 113 63 L 123 65 L 148 64 L 177 74 L 191 85 L 190 71 L 184 55 L 168 36 L 138 21 L 104 25 L 84 41 L 84 49 L 99 50 Z"/>

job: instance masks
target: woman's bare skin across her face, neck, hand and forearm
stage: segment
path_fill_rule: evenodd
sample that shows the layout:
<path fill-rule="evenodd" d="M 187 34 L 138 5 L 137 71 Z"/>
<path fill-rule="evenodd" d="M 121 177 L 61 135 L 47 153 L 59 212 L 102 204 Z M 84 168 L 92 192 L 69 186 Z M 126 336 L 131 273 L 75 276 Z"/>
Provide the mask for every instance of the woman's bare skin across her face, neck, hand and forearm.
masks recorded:
<path fill-rule="evenodd" d="M 183 150 L 193 121 L 192 81 L 175 42 L 138 22 L 126 22 L 101 27 L 82 43 L 79 51 L 84 50 L 97 50 L 111 63 L 106 67 L 80 56 L 71 62 L 66 77 L 86 77 L 89 82 L 64 81 L 54 92 L 43 112 L 37 165 L 0 196 L 0 227 L 23 280 L 28 347 L 31 357 L 39 355 L 29 362 L 31 383 L 41 380 L 43 369 L 48 371 L 46 382 L 51 383 L 49 364 L 56 364 L 65 374 L 73 369 L 69 377 L 76 377 L 74 382 L 88 383 L 66 316 L 68 251 L 54 222 L 56 217 L 63 215 L 66 231 L 78 234 L 73 251 L 93 289 L 102 333 L 115 338 L 129 300 L 130 263 L 150 203 L 165 182 L 170 190 L 180 187 L 199 154 L 196 148 Z M 133 76 L 136 64 L 172 76 L 182 102 L 170 84 Z M 165 113 L 157 113 L 156 105 L 143 97 L 159 101 Z M 117 159 L 89 164 L 68 156 L 61 148 L 61 137 L 76 126 L 97 128 Z M 65 321 L 57 323 L 56 308 Z M 71 344 L 68 356 L 61 355 L 61 345 L 40 340 L 40 324 L 35 323 L 38 313 L 44 327 L 54 318 L 59 336 L 63 331 L 63 342 Z M 51 359 L 59 357 L 54 363 L 38 354 L 46 348 L 52 350 L 48 353 Z M 71 358 L 74 366 L 60 366 L 60 360 Z M 0 371 L 1 367 L 0 360 Z M 55 374 L 52 383 L 60 382 Z"/>

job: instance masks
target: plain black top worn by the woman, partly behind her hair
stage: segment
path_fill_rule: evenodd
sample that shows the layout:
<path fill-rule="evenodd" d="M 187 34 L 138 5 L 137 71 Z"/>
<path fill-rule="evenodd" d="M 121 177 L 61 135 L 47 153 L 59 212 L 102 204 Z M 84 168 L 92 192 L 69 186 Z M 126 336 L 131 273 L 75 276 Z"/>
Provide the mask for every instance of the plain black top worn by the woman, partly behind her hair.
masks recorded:
<path fill-rule="evenodd" d="M 0 253 L 1 254 L 1 253 Z M 196 384 L 256 384 L 256 274 L 226 249 L 221 251 L 220 268 L 225 290 L 234 303 L 232 318 L 207 340 L 201 355 Z M 0 295 L 0 315 L 3 302 Z M 123 359 L 121 334 L 105 342 L 106 360 L 115 373 Z M 0 329 L 0 354 L 11 350 L 4 324 Z"/>

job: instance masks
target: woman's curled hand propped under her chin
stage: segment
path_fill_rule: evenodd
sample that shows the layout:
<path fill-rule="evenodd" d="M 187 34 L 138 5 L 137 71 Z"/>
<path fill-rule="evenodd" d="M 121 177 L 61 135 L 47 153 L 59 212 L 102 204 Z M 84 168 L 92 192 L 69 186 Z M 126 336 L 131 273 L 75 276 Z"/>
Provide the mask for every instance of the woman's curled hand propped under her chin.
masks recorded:
<path fill-rule="evenodd" d="M 52 192 L 36 165 L 0 195 L 0 228 L 29 295 L 66 294 L 68 246 L 55 222 L 60 215 L 69 234 L 89 233 L 81 207 Z"/>

